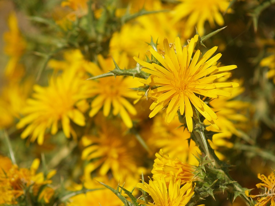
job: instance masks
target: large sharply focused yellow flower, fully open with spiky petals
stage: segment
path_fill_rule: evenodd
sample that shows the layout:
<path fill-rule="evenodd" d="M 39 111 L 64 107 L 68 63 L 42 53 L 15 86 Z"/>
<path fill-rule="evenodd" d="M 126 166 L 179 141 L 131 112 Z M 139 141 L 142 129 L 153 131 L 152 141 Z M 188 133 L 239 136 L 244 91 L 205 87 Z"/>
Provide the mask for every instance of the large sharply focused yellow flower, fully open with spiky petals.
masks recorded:
<path fill-rule="evenodd" d="M 198 35 L 195 35 L 188 47 L 185 46 L 182 49 L 180 39 L 176 38 L 175 52 L 173 48 L 170 48 L 165 38 L 163 40 L 164 58 L 154 49 L 150 49 L 152 55 L 162 66 L 156 63 L 150 64 L 134 57 L 138 63 L 146 67 L 143 70 L 151 74 L 147 80 L 141 79 L 140 81 L 146 85 L 157 87 L 152 89 L 151 98 L 155 101 L 150 107 L 150 110 L 153 111 L 149 117 L 155 116 L 168 105 L 165 121 L 167 123 L 171 122 L 179 110 L 181 115 L 185 113 L 189 132 L 193 130 L 193 109 L 191 103 L 214 127 L 218 128 L 214 122 L 218 118 L 217 115 L 196 94 L 211 98 L 217 98 L 219 95 L 230 96 L 229 92 L 217 88 L 236 87 L 239 85 L 234 82 L 214 83 L 218 78 L 229 74 L 223 71 L 235 69 L 237 66 L 217 67 L 216 62 L 222 55 L 219 53 L 209 59 L 217 50 L 216 46 L 208 50 L 199 59 L 200 50 L 197 50 L 193 55 L 197 41 Z"/>

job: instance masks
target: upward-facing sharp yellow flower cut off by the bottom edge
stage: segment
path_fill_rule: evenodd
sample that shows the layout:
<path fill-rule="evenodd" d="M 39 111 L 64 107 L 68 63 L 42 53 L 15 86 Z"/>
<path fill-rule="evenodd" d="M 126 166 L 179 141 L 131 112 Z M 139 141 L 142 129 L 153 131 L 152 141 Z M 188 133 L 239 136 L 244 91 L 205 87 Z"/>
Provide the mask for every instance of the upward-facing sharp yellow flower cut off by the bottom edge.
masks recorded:
<path fill-rule="evenodd" d="M 172 178 L 167 188 L 163 175 L 160 179 L 154 179 L 154 181 L 150 179 L 149 184 L 145 182 L 137 184 L 138 188 L 141 188 L 145 192 L 149 193 L 149 195 L 152 197 L 154 204 L 146 204 L 148 206 L 186 205 L 194 194 L 195 186 L 193 187 L 191 181 L 187 181 L 187 183 L 182 187 L 180 186 L 181 180 L 178 179 L 176 181 L 175 178 Z"/>

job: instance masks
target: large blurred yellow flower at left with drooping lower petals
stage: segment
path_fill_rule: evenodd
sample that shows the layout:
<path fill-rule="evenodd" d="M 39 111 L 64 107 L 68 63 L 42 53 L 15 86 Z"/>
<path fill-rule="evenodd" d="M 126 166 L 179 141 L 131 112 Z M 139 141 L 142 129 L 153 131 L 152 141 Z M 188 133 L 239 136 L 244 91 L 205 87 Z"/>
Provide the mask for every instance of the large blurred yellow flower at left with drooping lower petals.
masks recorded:
<path fill-rule="evenodd" d="M 57 133 L 59 121 L 66 137 L 70 137 L 70 134 L 75 136 L 70 120 L 79 126 L 85 125 L 85 117 L 76 106 L 80 100 L 90 96 L 89 85 L 73 69 L 64 71 L 56 78 L 52 77 L 47 87 L 35 85 L 32 99 L 27 100 L 27 106 L 22 110 L 25 117 L 16 125 L 17 128 L 28 125 L 21 137 L 24 139 L 31 135 L 31 142 L 38 139 L 41 145 L 47 129 L 51 128 L 52 135 Z"/>

